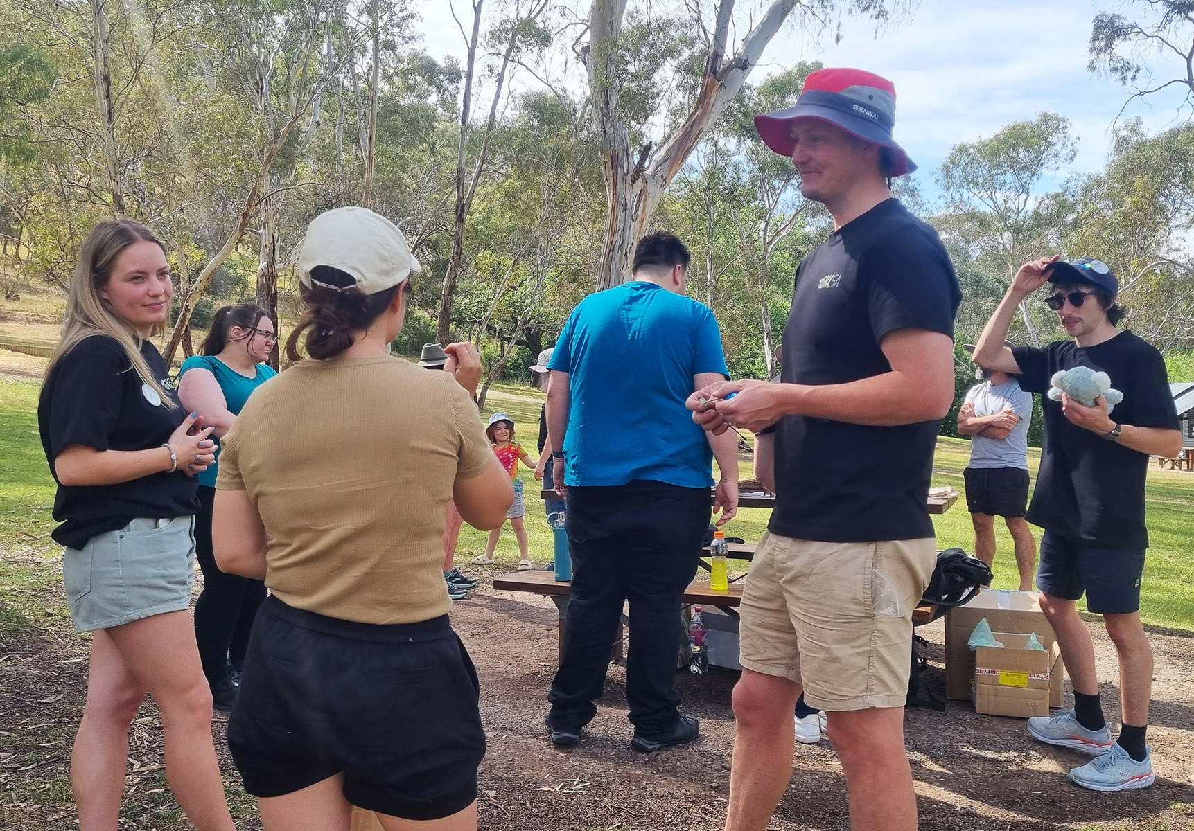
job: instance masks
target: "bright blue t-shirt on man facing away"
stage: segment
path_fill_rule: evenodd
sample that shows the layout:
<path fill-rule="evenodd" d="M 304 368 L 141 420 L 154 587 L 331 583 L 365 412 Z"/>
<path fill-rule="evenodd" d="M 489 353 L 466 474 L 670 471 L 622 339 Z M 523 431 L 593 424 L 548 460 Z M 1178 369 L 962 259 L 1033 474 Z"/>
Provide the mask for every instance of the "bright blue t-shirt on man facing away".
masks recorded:
<path fill-rule="evenodd" d="M 642 281 L 589 295 L 564 325 L 548 369 L 570 381 L 566 484 L 713 485 L 713 451 L 684 406 L 694 375 L 728 377 L 707 306 Z"/>

